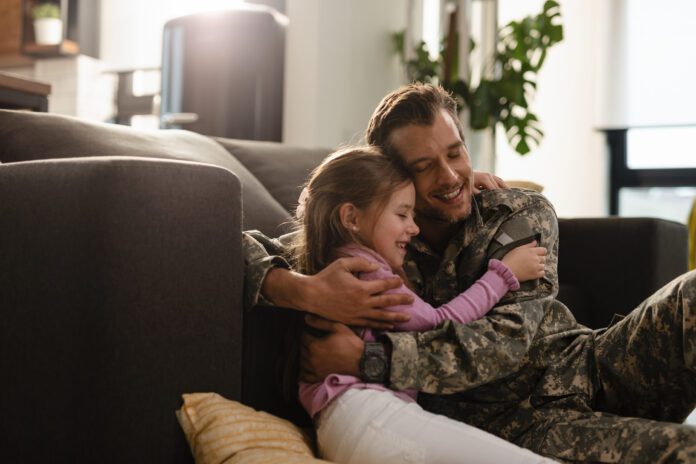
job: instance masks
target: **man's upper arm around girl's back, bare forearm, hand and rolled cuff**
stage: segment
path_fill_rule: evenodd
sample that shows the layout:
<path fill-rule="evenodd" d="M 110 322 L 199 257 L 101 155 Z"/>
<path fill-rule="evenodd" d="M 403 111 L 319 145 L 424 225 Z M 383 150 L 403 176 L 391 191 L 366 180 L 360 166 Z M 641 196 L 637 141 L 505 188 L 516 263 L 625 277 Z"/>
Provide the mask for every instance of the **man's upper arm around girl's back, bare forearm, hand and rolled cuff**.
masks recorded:
<path fill-rule="evenodd" d="M 410 295 L 382 294 L 401 285 L 400 279 L 363 282 L 354 272 L 370 272 L 375 265 L 362 258 L 341 258 L 313 276 L 289 268 L 285 242 L 258 231 L 244 232 L 244 307 L 277 305 L 307 311 L 346 324 L 389 329 L 408 314 L 380 308 L 409 304 Z"/>

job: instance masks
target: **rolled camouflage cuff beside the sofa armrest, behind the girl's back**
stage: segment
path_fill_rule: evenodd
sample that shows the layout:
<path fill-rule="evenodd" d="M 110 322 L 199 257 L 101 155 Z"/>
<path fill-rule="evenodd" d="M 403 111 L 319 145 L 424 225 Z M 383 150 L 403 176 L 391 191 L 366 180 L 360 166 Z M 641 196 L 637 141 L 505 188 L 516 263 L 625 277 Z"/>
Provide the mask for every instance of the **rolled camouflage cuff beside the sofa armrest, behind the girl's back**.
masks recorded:
<path fill-rule="evenodd" d="M 261 286 L 268 271 L 274 267 L 289 269 L 282 257 L 285 251 L 278 239 L 266 237 L 258 230 L 242 233 L 244 256 L 244 309 L 250 310 L 257 304 L 272 305 L 261 294 Z"/>

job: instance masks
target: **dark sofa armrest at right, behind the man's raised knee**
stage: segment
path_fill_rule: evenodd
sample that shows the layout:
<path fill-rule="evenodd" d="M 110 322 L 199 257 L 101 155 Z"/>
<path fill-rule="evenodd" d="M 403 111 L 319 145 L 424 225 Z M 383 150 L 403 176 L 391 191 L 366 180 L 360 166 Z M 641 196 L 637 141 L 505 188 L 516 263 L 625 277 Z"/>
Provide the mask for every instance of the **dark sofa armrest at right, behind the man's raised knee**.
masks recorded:
<path fill-rule="evenodd" d="M 558 299 L 580 323 L 606 327 L 687 271 L 687 236 L 663 219 L 561 219 Z"/>

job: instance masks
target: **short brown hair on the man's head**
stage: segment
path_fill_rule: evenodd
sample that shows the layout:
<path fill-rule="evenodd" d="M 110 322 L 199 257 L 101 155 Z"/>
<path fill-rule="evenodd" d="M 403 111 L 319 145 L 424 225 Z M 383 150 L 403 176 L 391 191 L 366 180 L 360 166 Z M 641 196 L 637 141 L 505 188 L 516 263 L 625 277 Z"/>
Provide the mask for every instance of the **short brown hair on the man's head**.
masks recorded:
<path fill-rule="evenodd" d="M 464 132 L 454 98 L 439 85 L 416 82 L 399 87 L 382 99 L 367 125 L 367 143 L 381 148 L 389 156 L 398 155 L 390 143 L 392 132 L 412 124 L 430 126 L 441 109 L 452 117 L 463 141 Z"/>

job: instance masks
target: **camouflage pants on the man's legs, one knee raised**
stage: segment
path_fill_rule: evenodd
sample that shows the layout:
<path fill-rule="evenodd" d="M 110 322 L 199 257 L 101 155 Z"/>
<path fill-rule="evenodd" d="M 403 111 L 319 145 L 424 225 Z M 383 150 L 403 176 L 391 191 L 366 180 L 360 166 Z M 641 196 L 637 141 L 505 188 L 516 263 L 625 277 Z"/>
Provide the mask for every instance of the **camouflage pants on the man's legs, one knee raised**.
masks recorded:
<path fill-rule="evenodd" d="M 582 351 L 592 366 L 587 398 L 530 398 L 472 425 L 561 462 L 696 463 L 696 427 L 680 424 L 696 406 L 696 272 L 597 331 Z M 445 403 L 429 409 L 447 414 Z"/>

